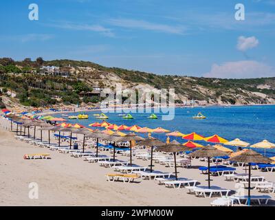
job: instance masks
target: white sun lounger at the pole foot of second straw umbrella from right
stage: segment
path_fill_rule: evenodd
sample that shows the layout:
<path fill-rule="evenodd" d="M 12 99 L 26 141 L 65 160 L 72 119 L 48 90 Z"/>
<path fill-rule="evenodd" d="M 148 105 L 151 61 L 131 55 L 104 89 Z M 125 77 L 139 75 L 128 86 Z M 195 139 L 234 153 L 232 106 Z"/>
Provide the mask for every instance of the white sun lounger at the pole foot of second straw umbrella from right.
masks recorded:
<path fill-rule="evenodd" d="M 197 197 L 212 197 L 215 196 L 223 196 L 223 193 L 225 193 L 225 196 L 228 196 L 228 193 L 230 190 L 225 188 L 220 188 L 219 186 L 211 186 L 208 188 L 208 186 L 186 186 L 188 188 L 190 193 L 195 193 Z"/>

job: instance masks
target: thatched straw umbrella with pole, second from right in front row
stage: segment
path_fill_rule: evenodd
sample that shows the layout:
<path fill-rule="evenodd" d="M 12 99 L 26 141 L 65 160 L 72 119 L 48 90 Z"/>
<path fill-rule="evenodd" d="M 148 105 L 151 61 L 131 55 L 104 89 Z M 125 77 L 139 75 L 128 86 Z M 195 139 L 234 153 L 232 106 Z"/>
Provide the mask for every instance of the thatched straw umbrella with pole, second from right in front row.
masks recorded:
<path fill-rule="evenodd" d="M 208 157 L 208 188 L 210 188 L 210 157 L 222 157 L 226 155 L 228 155 L 228 153 L 220 151 L 210 145 L 189 154 L 190 157 Z"/>

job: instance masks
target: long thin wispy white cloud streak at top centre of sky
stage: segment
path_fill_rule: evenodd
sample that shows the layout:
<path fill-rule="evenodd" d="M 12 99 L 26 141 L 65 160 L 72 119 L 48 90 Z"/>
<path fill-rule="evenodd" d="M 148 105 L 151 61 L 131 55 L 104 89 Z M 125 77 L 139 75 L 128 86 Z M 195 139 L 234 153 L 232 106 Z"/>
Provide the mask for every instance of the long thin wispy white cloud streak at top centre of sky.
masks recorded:
<path fill-rule="evenodd" d="M 186 30 L 186 28 L 181 25 L 165 25 L 134 19 L 109 19 L 109 23 L 111 23 L 111 25 L 121 28 L 151 30 L 157 32 L 165 32 L 169 34 L 184 34 Z"/>

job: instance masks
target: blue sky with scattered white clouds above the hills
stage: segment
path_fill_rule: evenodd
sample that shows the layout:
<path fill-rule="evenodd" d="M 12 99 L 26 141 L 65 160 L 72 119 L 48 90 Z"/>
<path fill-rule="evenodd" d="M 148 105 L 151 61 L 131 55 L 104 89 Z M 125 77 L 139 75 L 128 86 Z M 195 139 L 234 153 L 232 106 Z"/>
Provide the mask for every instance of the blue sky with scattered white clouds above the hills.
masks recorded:
<path fill-rule="evenodd" d="M 39 21 L 28 19 L 30 3 Z M 236 3 L 245 21 L 236 21 Z M 275 76 L 275 0 L 10 0 L 0 56 L 71 58 L 158 74 Z"/>

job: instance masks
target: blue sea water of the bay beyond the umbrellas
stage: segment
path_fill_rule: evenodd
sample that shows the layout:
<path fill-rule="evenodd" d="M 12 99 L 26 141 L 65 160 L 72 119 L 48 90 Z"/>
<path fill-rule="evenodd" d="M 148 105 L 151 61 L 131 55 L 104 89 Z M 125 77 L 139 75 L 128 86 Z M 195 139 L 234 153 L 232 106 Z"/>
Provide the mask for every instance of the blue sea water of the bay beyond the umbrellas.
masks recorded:
<path fill-rule="evenodd" d="M 199 111 L 206 115 L 206 120 L 194 120 L 193 115 Z M 97 120 L 93 114 L 100 113 L 96 111 L 86 112 L 89 115 L 89 120 L 68 120 L 72 123 L 80 123 L 85 126 L 92 122 L 101 122 Z M 107 113 L 109 119 L 107 122 L 115 124 L 126 124 L 131 126 L 137 124 L 139 126 L 148 126 L 156 128 L 162 126 L 170 131 L 180 131 L 188 134 L 193 131 L 208 137 L 219 134 L 227 140 L 239 138 L 250 144 L 261 142 L 266 139 L 275 143 L 275 105 L 269 106 L 245 106 L 245 107 L 195 107 L 195 108 L 177 108 L 175 109 L 175 118 L 170 121 L 161 120 L 161 113 L 156 113 L 159 119 L 148 119 L 151 113 L 131 113 L 133 120 L 126 120 L 118 116 L 119 113 Z M 68 113 L 68 115 L 78 115 L 78 113 Z M 57 116 L 60 116 L 57 115 Z M 153 134 L 153 136 L 165 140 L 165 134 Z M 171 140 L 173 137 L 171 138 Z M 177 138 L 179 142 L 185 142 Z M 206 142 L 200 142 L 206 144 Z M 232 149 L 236 150 L 235 147 Z M 263 149 L 255 149 L 263 153 Z M 275 149 L 267 149 L 267 156 L 274 156 Z"/>

